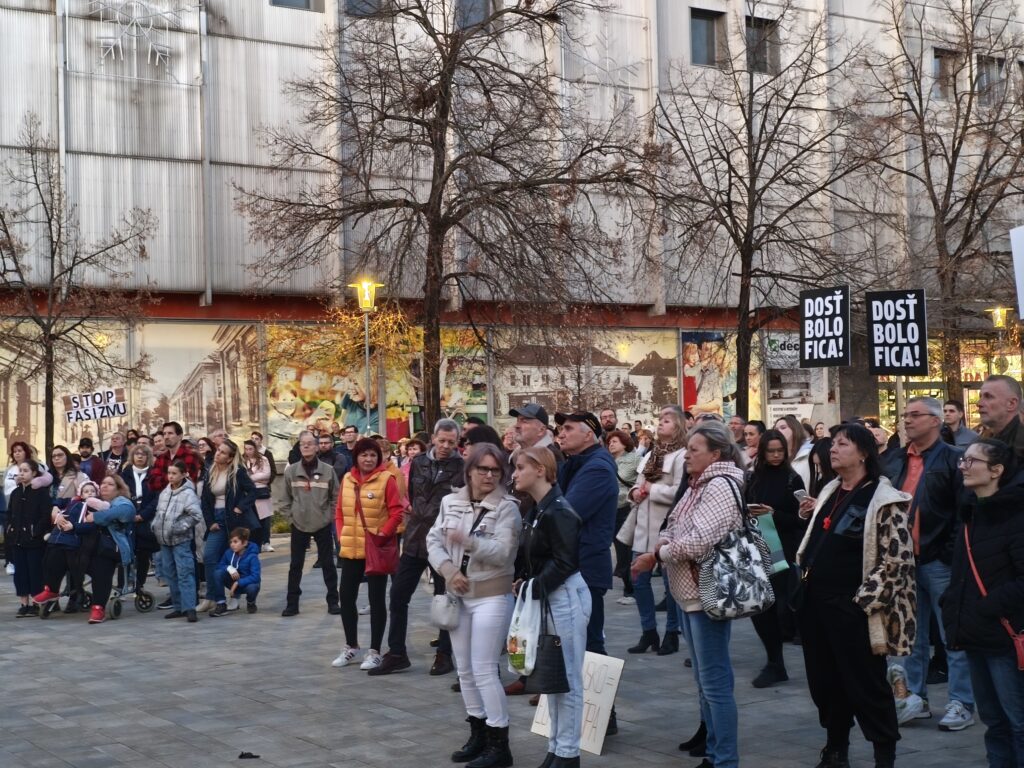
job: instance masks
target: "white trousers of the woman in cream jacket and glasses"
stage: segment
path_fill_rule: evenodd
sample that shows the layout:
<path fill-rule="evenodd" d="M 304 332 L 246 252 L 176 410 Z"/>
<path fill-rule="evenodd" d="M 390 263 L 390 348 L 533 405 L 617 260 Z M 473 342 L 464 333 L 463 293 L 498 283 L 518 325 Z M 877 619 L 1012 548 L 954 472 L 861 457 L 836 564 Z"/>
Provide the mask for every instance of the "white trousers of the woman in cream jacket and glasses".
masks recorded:
<path fill-rule="evenodd" d="M 459 670 L 466 713 L 470 717 L 485 718 L 492 728 L 504 728 L 509 724 L 498 659 L 514 607 L 511 594 L 463 600 L 459 626 L 452 630 L 452 652 Z"/>

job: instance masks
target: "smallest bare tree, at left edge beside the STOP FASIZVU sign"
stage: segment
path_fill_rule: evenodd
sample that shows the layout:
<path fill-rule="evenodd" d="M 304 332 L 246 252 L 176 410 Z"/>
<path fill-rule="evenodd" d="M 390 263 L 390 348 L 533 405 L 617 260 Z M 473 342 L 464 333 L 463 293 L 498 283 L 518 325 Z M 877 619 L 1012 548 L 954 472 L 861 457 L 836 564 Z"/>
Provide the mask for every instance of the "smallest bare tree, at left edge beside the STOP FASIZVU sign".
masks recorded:
<path fill-rule="evenodd" d="M 68 202 L 56 145 L 36 116 L 26 117 L 11 155 L 0 168 L 0 314 L 5 343 L 23 350 L 18 374 L 43 376 L 48 456 L 57 383 L 92 387 L 103 377 L 147 378 L 147 360 L 125 359 L 114 336 L 154 301 L 147 291 L 122 290 L 120 283 L 146 258 L 156 220 L 131 209 L 108 233 L 87 241 Z"/>

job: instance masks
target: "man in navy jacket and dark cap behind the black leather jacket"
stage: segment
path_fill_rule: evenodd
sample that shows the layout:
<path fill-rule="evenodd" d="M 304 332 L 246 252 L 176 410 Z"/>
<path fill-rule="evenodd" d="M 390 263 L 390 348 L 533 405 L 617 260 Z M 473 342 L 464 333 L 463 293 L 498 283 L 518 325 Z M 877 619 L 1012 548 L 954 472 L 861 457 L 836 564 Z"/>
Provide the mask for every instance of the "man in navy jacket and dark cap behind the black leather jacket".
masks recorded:
<path fill-rule="evenodd" d="M 555 414 L 565 463 L 558 468 L 558 485 L 583 521 L 580 530 L 580 573 L 590 588 L 593 609 L 587 625 L 587 650 L 604 649 L 604 593 L 611 589 L 611 540 L 618 507 L 615 460 L 601 442 L 601 422 L 594 414 Z M 614 708 L 609 734 L 617 732 Z"/>

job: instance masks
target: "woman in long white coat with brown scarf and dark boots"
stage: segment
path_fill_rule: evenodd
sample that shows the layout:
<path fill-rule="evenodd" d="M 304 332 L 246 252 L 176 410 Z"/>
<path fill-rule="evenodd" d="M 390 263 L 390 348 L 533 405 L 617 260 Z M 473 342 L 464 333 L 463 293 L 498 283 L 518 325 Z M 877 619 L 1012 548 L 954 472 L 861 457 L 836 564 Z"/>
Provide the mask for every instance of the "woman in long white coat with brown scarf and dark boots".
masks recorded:
<path fill-rule="evenodd" d="M 630 501 L 636 505 L 618 531 L 618 539 L 633 548 L 633 557 L 649 552 L 658 540 L 658 534 L 666 518 L 672 511 L 679 485 L 685 476 L 686 423 L 677 409 L 662 409 L 657 422 L 654 444 L 640 462 L 637 484 L 630 490 Z M 663 574 L 664 575 L 664 574 Z M 640 574 L 633 585 L 633 596 L 640 613 L 640 642 L 629 648 L 630 653 L 654 650 L 659 655 L 668 655 L 679 650 L 679 609 L 668 583 L 665 588 L 667 618 L 665 640 L 657 634 L 657 613 L 654 607 L 654 591 L 650 586 L 650 572 Z"/>

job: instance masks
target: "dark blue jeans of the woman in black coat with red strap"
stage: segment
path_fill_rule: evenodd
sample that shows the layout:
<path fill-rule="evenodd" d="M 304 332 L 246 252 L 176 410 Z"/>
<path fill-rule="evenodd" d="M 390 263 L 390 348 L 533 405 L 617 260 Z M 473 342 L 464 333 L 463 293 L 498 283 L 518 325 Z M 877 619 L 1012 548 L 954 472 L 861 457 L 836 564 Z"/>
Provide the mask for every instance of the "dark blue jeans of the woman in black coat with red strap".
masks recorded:
<path fill-rule="evenodd" d="M 978 716 L 985 731 L 988 768 L 1024 766 L 1024 672 L 1013 651 L 967 651 Z"/>

